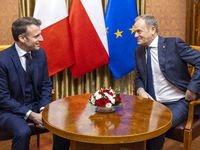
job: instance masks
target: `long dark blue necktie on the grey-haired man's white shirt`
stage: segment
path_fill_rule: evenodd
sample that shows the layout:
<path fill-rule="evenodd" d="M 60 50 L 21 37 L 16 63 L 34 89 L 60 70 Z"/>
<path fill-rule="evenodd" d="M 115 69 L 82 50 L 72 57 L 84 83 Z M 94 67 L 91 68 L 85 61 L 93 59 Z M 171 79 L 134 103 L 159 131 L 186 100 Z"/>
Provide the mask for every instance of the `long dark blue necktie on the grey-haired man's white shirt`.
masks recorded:
<path fill-rule="evenodd" d="M 151 97 L 156 100 L 154 86 L 153 86 L 153 75 L 152 75 L 152 68 L 151 68 L 151 47 L 147 47 L 147 92 Z"/>

